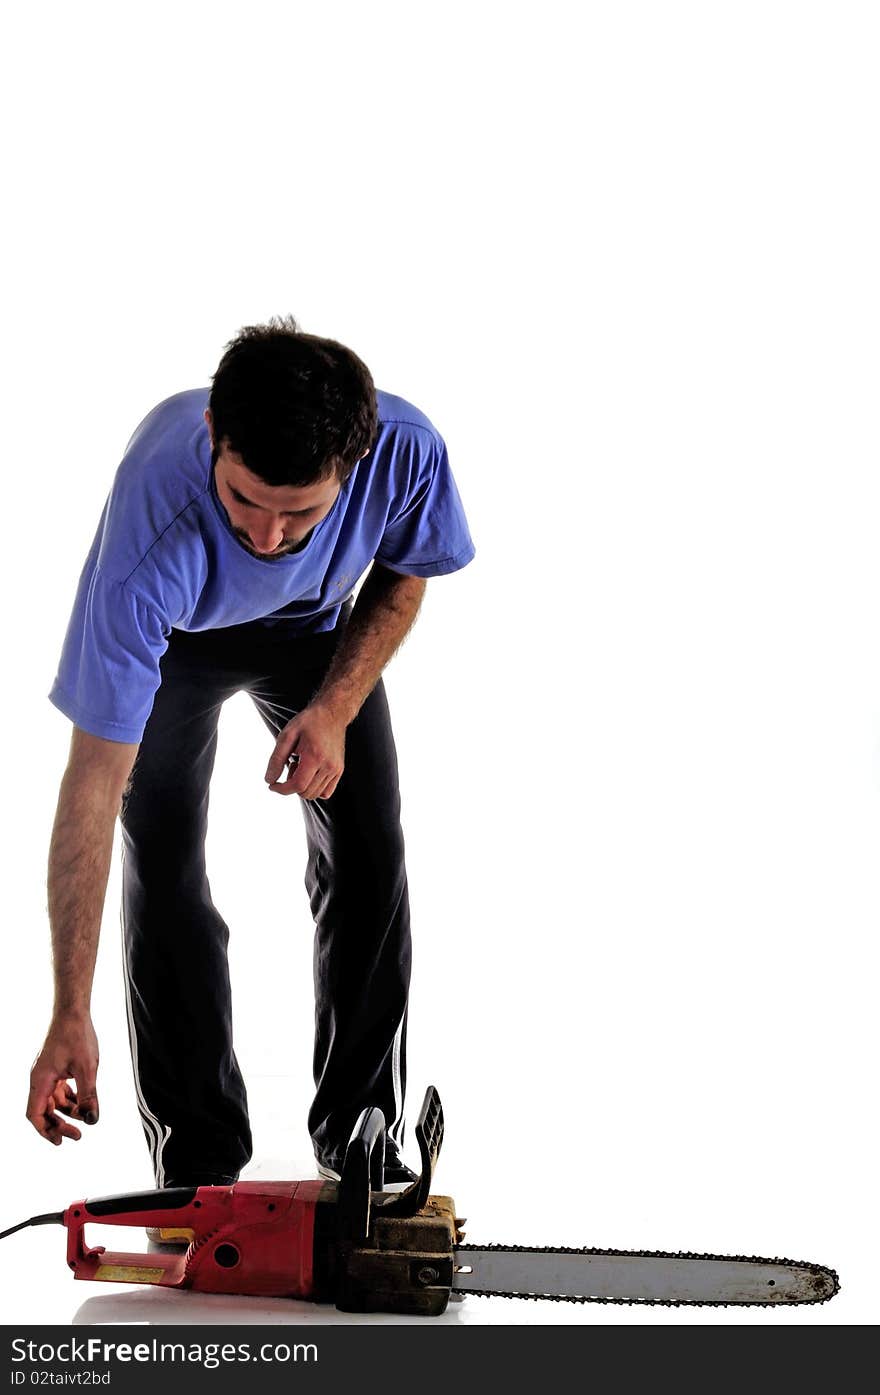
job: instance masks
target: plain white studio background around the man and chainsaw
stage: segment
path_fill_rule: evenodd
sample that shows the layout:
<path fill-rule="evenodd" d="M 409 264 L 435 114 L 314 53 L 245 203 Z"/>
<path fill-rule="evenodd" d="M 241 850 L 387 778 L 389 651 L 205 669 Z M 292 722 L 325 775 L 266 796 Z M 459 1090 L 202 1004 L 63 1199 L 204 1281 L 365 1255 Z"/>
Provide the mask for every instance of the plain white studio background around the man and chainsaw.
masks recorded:
<path fill-rule="evenodd" d="M 100 1124 L 50 1149 L 24 1122 L 70 735 L 46 692 L 131 431 L 293 312 L 434 420 L 477 544 L 388 674 L 435 1189 L 473 1240 L 844 1285 L 441 1321 L 873 1322 L 876 8 L 47 3 L 4 50 L 0 1228 L 151 1184 L 116 865 Z M 233 700 L 209 859 L 269 1177 L 311 1173 L 312 1009 L 266 757 Z M 74 1285 L 60 1230 L 1 1272 L 6 1322 L 315 1317 Z"/>

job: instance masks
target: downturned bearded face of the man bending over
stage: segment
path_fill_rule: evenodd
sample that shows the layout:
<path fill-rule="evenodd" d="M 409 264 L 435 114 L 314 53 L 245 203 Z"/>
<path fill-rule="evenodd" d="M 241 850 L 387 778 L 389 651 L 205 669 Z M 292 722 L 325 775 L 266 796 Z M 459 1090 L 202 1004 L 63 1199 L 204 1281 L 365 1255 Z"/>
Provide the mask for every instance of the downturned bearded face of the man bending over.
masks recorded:
<path fill-rule="evenodd" d="M 205 412 L 205 421 L 211 432 L 218 495 L 241 547 L 264 559 L 296 552 L 333 508 L 340 490 L 336 476 L 318 484 L 266 484 L 251 474 L 226 441 L 218 451 L 209 410 Z"/>

